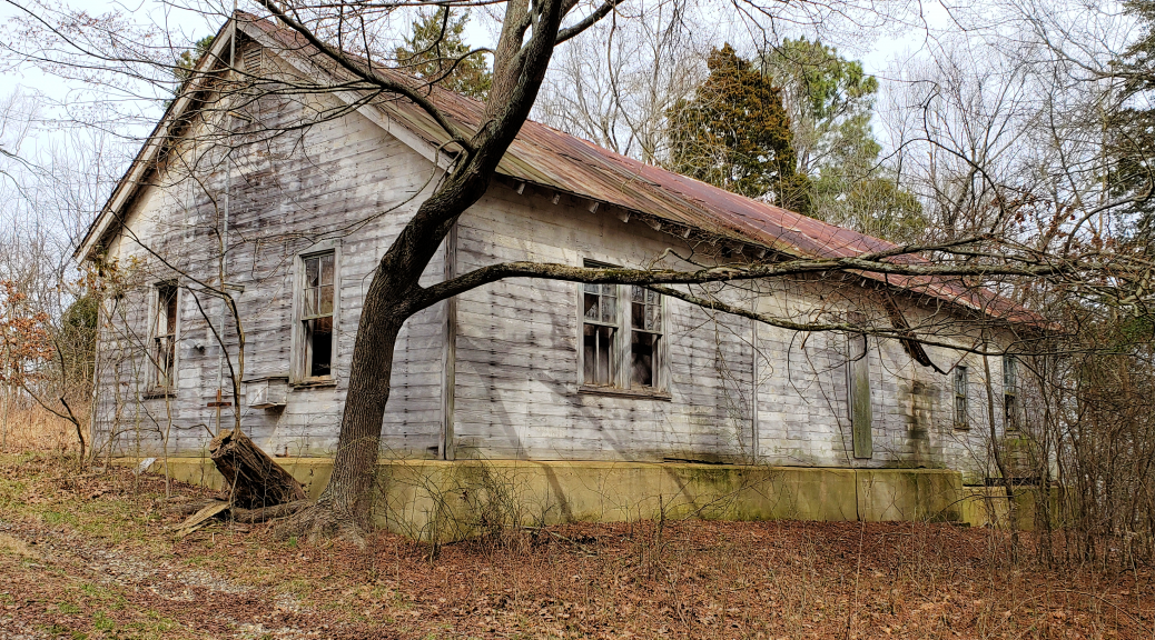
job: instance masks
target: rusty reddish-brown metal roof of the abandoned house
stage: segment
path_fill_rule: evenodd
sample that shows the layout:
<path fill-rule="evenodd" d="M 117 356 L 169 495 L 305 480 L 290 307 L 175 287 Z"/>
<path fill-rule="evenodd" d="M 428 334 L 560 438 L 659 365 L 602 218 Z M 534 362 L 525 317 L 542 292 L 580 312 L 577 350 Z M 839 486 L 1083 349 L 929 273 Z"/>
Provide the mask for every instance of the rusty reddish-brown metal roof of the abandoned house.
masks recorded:
<path fill-rule="evenodd" d="M 238 12 L 238 18 L 241 30 L 255 35 L 248 29 L 256 27 L 263 33 L 273 36 L 286 52 L 306 55 L 314 62 L 323 58 L 296 31 L 243 12 Z M 350 58 L 364 62 L 364 59 L 355 55 Z M 338 75 L 346 73 L 338 70 L 331 61 L 327 65 L 322 62 L 322 66 L 331 68 Z M 417 82 L 394 69 L 374 67 L 374 71 L 393 82 Z M 483 103 L 440 86 L 423 84 L 422 88 L 430 92 L 437 107 L 462 129 L 476 130 L 484 114 Z M 442 148 L 449 141 L 448 134 L 411 101 L 381 98 L 373 106 L 434 149 Z M 531 120 L 522 126 L 498 166 L 498 173 L 542 188 L 613 205 L 653 220 L 728 239 L 738 244 L 763 247 L 785 256 L 836 258 L 897 248 L 886 240 L 646 165 Z M 929 261 L 911 255 L 891 259 L 930 264 Z M 960 278 L 879 273 L 862 276 L 1009 322 L 1041 322 L 1036 314 L 988 289 L 967 286 Z"/>

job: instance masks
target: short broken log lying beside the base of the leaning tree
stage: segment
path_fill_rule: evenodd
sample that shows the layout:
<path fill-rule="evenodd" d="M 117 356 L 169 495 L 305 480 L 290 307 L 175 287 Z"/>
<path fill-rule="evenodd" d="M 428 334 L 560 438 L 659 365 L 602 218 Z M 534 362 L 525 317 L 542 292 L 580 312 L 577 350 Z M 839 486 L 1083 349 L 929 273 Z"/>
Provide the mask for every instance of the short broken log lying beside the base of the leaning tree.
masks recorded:
<path fill-rule="evenodd" d="M 221 431 L 213 438 L 209 454 L 234 506 L 263 509 L 305 499 L 300 483 L 241 431 Z"/>

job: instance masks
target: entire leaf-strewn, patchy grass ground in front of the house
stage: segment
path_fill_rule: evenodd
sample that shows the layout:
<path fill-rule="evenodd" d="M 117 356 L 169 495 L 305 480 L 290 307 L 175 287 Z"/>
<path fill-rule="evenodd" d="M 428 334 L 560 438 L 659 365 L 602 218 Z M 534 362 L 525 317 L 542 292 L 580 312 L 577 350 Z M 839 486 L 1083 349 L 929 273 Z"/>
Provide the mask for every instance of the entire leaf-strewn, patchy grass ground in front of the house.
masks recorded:
<path fill-rule="evenodd" d="M 204 490 L 0 457 L 0 638 L 1155 638 L 1148 567 L 952 525 L 574 525 L 365 550 L 214 525 Z"/>

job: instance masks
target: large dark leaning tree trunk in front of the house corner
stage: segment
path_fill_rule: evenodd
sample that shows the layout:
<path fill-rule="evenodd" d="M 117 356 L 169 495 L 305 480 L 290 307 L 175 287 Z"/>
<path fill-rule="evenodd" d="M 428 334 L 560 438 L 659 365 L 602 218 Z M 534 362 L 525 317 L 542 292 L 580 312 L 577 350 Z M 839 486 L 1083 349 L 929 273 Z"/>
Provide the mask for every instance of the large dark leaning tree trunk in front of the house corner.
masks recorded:
<path fill-rule="evenodd" d="M 612 6 L 603 5 L 601 16 Z M 273 5 L 266 7 L 275 9 Z M 349 530 L 367 525 L 381 421 L 389 400 L 393 349 L 405 319 L 433 302 L 418 302 L 423 292 L 418 280 L 457 217 L 485 195 L 498 163 L 529 116 L 568 7 L 572 5 L 561 0 L 543 0 L 532 8 L 528 0 L 507 6 L 485 118 L 469 140 L 463 164 L 450 171 L 437 191 L 417 208 L 373 272 L 349 368 L 333 475 L 315 507 L 286 522 L 281 528 L 283 534 L 305 528 L 312 539 L 323 529 Z M 277 15 L 292 24 L 283 13 Z"/>

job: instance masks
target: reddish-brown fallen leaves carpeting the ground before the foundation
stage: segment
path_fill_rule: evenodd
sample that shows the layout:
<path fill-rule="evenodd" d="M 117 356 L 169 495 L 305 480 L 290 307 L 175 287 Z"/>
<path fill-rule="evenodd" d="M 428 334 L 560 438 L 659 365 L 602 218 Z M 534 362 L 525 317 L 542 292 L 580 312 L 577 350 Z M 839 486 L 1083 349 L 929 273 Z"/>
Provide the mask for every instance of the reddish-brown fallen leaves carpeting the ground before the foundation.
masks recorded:
<path fill-rule="evenodd" d="M 0 477 L 12 472 L 0 466 Z M 199 525 L 211 527 L 178 540 L 171 532 L 191 527 L 188 513 L 163 514 L 156 476 L 17 476 L 35 483 L 23 496 L 52 496 L 55 512 L 94 503 L 103 506 L 85 518 L 156 511 L 151 520 L 116 524 L 150 544 L 110 554 L 228 575 L 254 593 L 296 598 L 326 624 L 402 638 L 1126 638 L 1149 635 L 1155 619 L 1146 570 L 1015 566 L 998 532 L 947 525 L 569 525 L 447 545 L 431 559 L 426 545 L 385 533 L 366 551 L 300 548 L 263 526 L 246 533 L 208 515 Z M 210 496 L 173 487 L 181 499 L 170 504 Z M 36 562 L 24 554 L 37 552 L 0 539 L 8 562 Z"/>

